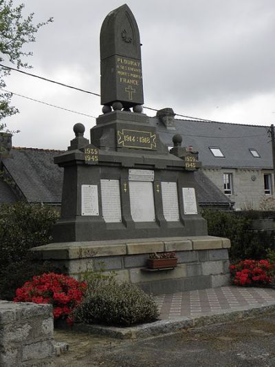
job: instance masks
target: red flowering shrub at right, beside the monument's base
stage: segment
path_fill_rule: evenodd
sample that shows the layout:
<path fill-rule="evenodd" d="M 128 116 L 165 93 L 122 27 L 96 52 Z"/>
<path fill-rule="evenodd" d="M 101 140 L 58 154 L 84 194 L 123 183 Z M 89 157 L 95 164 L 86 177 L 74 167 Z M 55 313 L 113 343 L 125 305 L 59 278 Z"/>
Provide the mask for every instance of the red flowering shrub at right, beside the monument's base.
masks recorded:
<path fill-rule="evenodd" d="M 230 265 L 233 283 L 238 286 L 269 285 L 274 280 L 275 264 L 269 260 L 243 260 Z"/>

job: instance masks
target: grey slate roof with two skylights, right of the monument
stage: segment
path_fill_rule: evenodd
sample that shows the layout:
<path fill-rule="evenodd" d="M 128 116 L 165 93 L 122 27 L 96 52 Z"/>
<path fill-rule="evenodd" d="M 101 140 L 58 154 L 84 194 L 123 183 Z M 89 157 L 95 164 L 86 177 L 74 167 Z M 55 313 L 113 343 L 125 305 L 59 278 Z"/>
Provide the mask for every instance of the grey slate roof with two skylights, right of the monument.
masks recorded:
<path fill-rule="evenodd" d="M 199 151 L 199 160 L 203 167 L 273 167 L 271 138 L 267 134 L 267 126 L 175 119 L 175 130 L 169 130 L 157 117 L 150 118 L 150 123 L 157 127 L 157 132 L 166 145 L 173 146 L 173 135 L 181 134 L 182 146 L 192 145 L 195 151 Z M 215 158 L 209 147 L 219 147 L 225 158 Z M 249 149 L 256 149 L 260 158 L 254 158 Z"/>

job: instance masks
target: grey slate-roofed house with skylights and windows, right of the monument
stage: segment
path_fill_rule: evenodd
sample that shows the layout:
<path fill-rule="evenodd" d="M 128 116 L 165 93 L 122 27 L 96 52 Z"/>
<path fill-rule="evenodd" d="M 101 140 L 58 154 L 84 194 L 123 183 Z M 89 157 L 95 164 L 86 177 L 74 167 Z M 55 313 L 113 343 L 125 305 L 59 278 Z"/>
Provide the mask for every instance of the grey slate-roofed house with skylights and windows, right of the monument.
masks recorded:
<path fill-rule="evenodd" d="M 269 127 L 179 120 L 170 108 L 159 110 L 150 123 L 168 147 L 178 133 L 182 146 L 199 152 L 203 174 L 235 203 L 235 210 L 259 209 L 263 198 L 274 197 Z"/>

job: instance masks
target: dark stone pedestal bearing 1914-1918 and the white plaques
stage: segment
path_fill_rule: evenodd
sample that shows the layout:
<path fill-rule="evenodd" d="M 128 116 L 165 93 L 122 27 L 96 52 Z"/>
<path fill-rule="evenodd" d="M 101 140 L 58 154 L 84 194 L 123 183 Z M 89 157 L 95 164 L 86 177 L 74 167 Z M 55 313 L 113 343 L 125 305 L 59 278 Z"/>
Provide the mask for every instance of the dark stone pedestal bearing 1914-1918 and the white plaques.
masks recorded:
<path fill-rule="evenodd" d="M 54 159 L 64 167 L 54 242 L 207 234 L 195 196 L 194 210 L 184 203 L 184 189 L 195 193 L 194 171 L 169 153 L 144 114 L 104 114 L 91 129 L 91 144 L 76 136 Z"/>

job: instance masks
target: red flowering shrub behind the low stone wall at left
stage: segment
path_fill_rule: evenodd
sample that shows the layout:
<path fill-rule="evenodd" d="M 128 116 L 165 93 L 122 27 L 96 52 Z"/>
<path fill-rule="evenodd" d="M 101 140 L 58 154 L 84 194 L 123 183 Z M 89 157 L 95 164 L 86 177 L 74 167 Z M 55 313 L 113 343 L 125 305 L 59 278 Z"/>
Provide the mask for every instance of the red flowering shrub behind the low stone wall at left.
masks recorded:
<path fill-rule="evenodd" d="M 54 319 L 66 319 L 72 323 L 71 313 L 80 304 L 87 287 L 73 277 L 63 274 L 45 273 L 34 276 L 30 282 L 17 289 L 14 302 L 50 303 Z"/>

